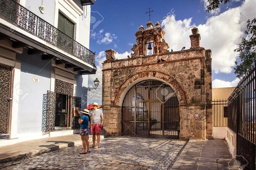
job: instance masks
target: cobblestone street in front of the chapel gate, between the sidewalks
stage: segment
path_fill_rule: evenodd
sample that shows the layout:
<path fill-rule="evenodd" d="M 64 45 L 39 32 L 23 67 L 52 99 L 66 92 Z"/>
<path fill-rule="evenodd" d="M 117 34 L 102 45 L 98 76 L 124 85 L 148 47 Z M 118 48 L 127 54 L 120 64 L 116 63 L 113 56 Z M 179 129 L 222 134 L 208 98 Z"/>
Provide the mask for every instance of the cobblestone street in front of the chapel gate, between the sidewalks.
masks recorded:
<path fill-rule="evenodd" d="M 70 147 L 0 164 L 3 169 L 170 169 L 186 142 L 152 138 L 107 138 L 81 155 Z"/>

